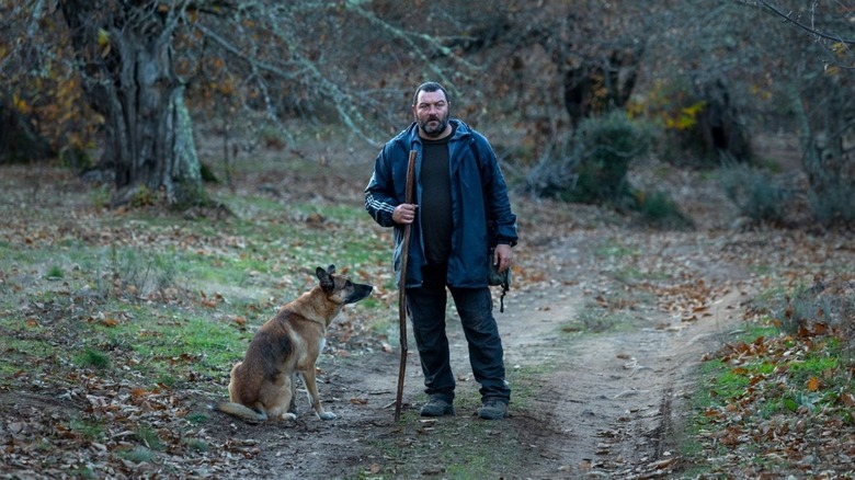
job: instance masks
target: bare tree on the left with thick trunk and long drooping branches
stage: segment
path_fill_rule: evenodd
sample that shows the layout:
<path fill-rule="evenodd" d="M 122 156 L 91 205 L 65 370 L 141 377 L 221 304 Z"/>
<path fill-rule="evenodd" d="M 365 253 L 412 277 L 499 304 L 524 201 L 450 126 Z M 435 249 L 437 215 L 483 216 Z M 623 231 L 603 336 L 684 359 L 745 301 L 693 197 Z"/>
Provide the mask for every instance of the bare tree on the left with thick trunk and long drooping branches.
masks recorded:
<path fill-rule="evenodd" d="M 395 3 L 66 0 L 57 8 L 38 0 L 3 8 L 30 26 L 67 25 L 87 100 L 103 117 L 102 164 L 115 173 L 113 205 L 149 192 L 162 192 L 171 205 L 204 201 L 191 93 L 200 103 L 229 102 L 271 122 L 329 111 L 372 141 L 376 121 L 389 111 L 385 100 L 400 102 L 388 85 L 407 78 L 411 89 L 430 77 L 454 89 L 446 67 L 471 68 L 443 32 L 397 25 Z M 425 12 L 441 11 L 432 9 Z M 16 50 L 54 47 L 45 35 L 19 38 L 9 43 Z M 377 67 L 383 53 L 385 68 L 372 77 L 366 66 Z M 406 57 L 400 65 L 420 67 L 390 71 L 395 55 Z M 25 70 L 24 64 L 18 65 Z"/>

